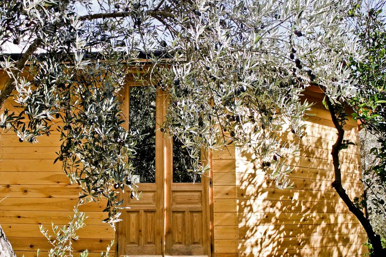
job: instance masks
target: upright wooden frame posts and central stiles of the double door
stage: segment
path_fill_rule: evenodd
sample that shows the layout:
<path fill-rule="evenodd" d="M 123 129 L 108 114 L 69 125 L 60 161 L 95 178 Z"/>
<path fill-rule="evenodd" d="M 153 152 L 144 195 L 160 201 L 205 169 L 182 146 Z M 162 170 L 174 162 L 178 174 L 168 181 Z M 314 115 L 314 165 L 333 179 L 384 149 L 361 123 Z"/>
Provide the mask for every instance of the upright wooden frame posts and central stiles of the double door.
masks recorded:
<path fill-rule="evenodd" d="M 123 114 L 127 119 L 124 126 L 128 129 L 128 120 L 129 120 L 129 94 L 130 94 L 130 85 L 126 85 L 122 95 L 123 95 Z M 171 139 L 166 138 L 164 133 L 161 132 L 160 126 L 164 121 L 164 116 L 166 115 L 166 110 L 168 104 L 167 92 L 164 90 L 156 91 L 156 204 L 157 208 L 161 208 L 160 211 L 156 211 L 156 219 L 157 224 L 161 225 L 163 229 L 156 229 L 156 238 L 162 238 L 162 241 L 156 244 L 156 255 L 154 256 L 166 256 L 166 202 L 168 201 L 167 197 L 169 197 L 166 192 L 171 192 L 171 184 L 172 184 L 172 175 L 170 178 L 170 183 L 167 183 L 168 179 L 168 171 L 172 169 L 172 163 L 170 161 L 166 161 L 167 158 L 172 156 L 172 145 Z M 162 146 L 157 147 L 157 146 Z M 209 174 L 202 175 L 202 185 L 203 185 L 203 218 L 205 218 L 204 225 L 204 236 L 203 241 L 206 242 L 206 253 L 207 256 L 214 256 L 214 226 L 213 226 L 213 192 L 212 192 L 212 154 L 208 151 L 202 151 L 202 160 L 203 166 L 207 163 L 210 164 Z M 157 168 L 158 167 L 158 168 Z M 161 169 L 161 171 L 160 171 Z M 166 190 L 167 189 L 167 190 Z M 169 191 L 168 191 L 169 190 Z M 122 194 L 125 197 L 127 193 Z M 162 206 L 162 207 L 161 207 Z M 122 221 L 123 222 L 123 221 Z M 115 255 L 120 256 L 119 253 L 124 252 L 124 245 L 120 243 L 120 241 L 125 241 L 126 233 L 120 233 L 122 230 L 121 222 L 118 222 L 116 229 L 116 251 Z M 120 229 L 121 227 L 121 229 Z M 157 233 L 162 233 L 159 235 Z M 130 256 L 130 255 L 128 255 Z M 133 255 L 134 256 L 134 255 Z M 140 255 L 135 255 L 140 256 Z"/>

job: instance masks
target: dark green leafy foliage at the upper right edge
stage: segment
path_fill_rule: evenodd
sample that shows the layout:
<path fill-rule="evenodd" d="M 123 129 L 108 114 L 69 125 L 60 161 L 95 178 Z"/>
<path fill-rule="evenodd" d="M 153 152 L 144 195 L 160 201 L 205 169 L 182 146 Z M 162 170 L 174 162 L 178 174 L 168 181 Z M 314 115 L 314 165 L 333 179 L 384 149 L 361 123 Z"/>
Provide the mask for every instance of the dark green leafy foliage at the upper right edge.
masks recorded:
<path fill-rule="evenodd" d="M 378 138 L 380 148 L 371 150 L 379 159 L 373 170 L 386 182 L 386 20 L 382 13 L 385 2 L 363 3 L 364 9 L 355 5 L 349 12 L 355 18 L 356 33 L 367 52 L 365 61 L 352 62 L 359 93 L 350 98 L 350 104 L 355 106 L 354 117 Z"/>

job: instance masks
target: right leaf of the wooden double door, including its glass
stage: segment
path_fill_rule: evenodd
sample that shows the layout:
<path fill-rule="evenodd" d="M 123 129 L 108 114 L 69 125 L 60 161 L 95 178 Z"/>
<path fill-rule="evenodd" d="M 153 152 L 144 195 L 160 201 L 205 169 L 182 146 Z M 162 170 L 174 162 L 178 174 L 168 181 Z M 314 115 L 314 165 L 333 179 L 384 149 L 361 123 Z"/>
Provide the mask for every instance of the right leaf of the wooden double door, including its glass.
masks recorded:
<path fill-rule="evenodd" d="M 207 178 L 188 174 L 185 168 L 178 167 L 189 166 L 186 162 L 189 158 L 175 140 L 167 139 L 166 146 L 166 255 L 209 256 Z"/>

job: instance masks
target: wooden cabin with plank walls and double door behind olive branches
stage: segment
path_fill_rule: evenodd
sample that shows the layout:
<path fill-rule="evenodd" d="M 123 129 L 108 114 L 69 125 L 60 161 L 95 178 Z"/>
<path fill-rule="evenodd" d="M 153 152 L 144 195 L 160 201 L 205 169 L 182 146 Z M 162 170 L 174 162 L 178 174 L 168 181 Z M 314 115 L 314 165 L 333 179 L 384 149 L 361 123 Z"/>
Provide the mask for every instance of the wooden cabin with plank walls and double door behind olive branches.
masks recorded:
<path fill-rule="evenodd" d="M 5 74 L 0 75 L 4 85 Z M 0 86 L 1 88 L 1 86 Z M 130 83 L 124 110 L 129 112 Z M 155 101 L 162 122 L 164 101 Z M 126 194 L 127 206 L 118 229 L 102 223 L 105 203 L 83 205 L 88 219 L 73 240 L 76 250 L 100 256 L 115 240 L 112 256 L 356 256 L 367 252 L 365 231 L 331 187 L 331 147 L 336 131 L 322 96 L 307 89 L 316 104 L 307 121 L 301 153 L 292 159 L 292 190 L 279 190 L 251 165 L 242 149 L 229 147 L 209 154 L 211 171 L 199 182 L 173 178 L 172 143 L 157 131 L 154 180 L 139 183 L 139 200 Z M 12 109 L 8 102 L 6 108 Z M 160 115 L 161 113 L 161 115 Z M 291 135 L 284 134 L 288 141 Z M 350 120 L 346 139 L 356 143 L 341 153 L 343 186 L 351 196 L 362 194 L 357 126 Z M 20 143 L 0 130 L 0 224 L 18 256 L 47 256 L 49 241 L 39 225 L 66 224 L 79 189 L 53 164 L 59 134 L 38 144 Z M 75 254 L 76 256 L 76 254 Z"/>

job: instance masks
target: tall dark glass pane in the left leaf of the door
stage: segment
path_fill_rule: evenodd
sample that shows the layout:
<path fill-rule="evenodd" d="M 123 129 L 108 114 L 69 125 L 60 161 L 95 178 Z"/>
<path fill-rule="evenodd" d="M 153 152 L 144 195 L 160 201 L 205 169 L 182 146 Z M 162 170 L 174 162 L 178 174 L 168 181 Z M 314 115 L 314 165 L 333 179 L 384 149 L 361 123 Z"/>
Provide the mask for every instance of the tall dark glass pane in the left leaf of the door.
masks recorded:
<path fill-rule="evenodd" d="M 149 88 L 130 87 L 129 132 L 136 137 L 134 175 L 140 183 L 155 183 L 155 95 Z"/>

